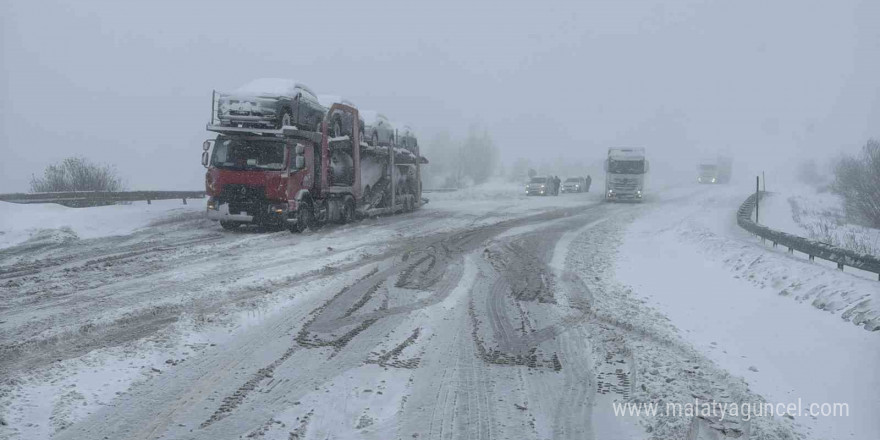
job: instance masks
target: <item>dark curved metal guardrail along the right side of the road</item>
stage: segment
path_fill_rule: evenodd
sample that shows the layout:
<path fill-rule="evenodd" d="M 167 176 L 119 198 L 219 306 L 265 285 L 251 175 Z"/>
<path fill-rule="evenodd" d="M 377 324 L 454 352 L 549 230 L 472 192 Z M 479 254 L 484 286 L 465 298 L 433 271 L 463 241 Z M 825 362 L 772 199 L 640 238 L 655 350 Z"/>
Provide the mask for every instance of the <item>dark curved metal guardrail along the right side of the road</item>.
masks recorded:
<path fill-rule="evenodd" d="M 761 198 L 763 198 L 765 192 L 761 191 L 760 194 Z M 837 263 L 837 268 L 840 270 L 843 270 L 844 266 L 850 266 L 856 269 L 874 272 L 878 274 L 878 279 L 880 279 L 880 258 L 873 255 L 861 254 L 848 249 L 842 249 L 828 243 L 822 243 L 821 241 L 810 240 L 797 235 L 776 231 L 752 221 L 752 212 L 755 210 L 755 200 L 757 196 L 757 194 L 752 194 L 742 205 L 740 205 L 739 211 L 737 211 L 736 214 L 736 223 L 741 228 L 763 239 L 771 241 L 774 247 L 780 244 L 787 247 L 789 253 L 794 253 L 794 251 L 803 252 L 809 256 L 810 261 L 819 257 L 823 260 Z"/>

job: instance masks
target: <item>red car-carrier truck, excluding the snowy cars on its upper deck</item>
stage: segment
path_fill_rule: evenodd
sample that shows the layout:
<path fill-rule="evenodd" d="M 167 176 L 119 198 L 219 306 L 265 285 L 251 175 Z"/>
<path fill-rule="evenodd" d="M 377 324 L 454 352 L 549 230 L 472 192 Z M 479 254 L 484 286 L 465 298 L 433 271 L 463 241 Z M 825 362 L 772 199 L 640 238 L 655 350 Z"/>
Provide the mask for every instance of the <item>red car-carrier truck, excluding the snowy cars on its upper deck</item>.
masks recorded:
<path fill-rule="evenodd" d="M 412 211 L 422 203 L 427 160 L 392 145 L 360 139 L 357 108 L 334 103 L 320 132 L 208 124 L 203 144 L 208 218 L 225 229 L 244 224 L 301 232 L 359 216 Z M 347 121 L 328 136 L 330 121 Z"/>

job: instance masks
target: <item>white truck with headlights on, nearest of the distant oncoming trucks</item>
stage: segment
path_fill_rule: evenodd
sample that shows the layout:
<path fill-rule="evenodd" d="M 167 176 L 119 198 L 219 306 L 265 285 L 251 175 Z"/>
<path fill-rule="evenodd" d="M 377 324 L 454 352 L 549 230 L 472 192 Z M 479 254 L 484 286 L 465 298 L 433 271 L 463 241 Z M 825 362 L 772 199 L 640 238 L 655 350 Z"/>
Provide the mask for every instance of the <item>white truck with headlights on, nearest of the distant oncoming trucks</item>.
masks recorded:
<path fill-rule="evenodd" d="M 609 148 L 605 159 L 605 201 L 641 202 L 647 174 L 644 148 Z"/>

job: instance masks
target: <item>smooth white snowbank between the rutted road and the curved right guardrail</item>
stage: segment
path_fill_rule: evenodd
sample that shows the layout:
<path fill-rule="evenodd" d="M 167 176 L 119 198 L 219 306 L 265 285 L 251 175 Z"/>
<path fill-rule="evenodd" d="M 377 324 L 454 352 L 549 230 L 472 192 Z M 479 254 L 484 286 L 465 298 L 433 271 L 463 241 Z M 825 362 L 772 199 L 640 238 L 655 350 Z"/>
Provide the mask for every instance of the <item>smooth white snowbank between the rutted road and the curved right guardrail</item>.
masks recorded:
<path fill-rule="evenodd" d="M 871 437 L 880 430 L 871 412 L 880 399 L 862 390 L 880 386 L 880 340 L 844 321 L 880 328 L 880 284 L 761 244 L 736 225 L 748 195 L 711 187 L 646 205 L 624 236 L 618 280 L 768 402 L 849 405 L 849 417 L 796 416 L 791 423 L 809 437 Z M 791 210 L 785 197 L 775 198 L 761 216 L 784 228 Z"/>

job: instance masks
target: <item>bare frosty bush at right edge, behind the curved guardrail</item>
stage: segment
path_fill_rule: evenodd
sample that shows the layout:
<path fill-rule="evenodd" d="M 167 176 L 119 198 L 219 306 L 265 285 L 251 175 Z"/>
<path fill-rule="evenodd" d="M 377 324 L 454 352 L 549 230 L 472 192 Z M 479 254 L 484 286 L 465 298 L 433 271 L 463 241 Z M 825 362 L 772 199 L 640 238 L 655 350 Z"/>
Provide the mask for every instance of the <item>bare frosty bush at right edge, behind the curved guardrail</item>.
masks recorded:
<path fill-rule="evenodd" d="M 870 139 L 859 156 L 842 157 L 832 189 L 843 197 L 847 217 L 880 228 L 880 141 Z"/>

